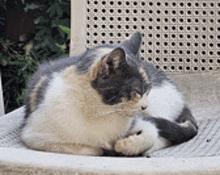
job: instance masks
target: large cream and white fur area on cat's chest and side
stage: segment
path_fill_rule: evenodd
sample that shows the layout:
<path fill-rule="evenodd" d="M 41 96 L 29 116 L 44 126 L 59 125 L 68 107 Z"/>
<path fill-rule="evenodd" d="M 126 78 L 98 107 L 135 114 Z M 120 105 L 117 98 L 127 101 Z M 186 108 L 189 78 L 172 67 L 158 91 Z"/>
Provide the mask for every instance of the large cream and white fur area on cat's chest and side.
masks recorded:
<path fill-rule="evenodd" d="M 23 129 L 22 140 L 28 147 L 100 155 L 101 148 L 112 150 L 115 141 L 127 134 L 132 118 L 123 110 L 136 102 L 105 105 L 89 76 L 76 76 L 74 71 L 69 67 L 54 74 L 44 101 Z"/>

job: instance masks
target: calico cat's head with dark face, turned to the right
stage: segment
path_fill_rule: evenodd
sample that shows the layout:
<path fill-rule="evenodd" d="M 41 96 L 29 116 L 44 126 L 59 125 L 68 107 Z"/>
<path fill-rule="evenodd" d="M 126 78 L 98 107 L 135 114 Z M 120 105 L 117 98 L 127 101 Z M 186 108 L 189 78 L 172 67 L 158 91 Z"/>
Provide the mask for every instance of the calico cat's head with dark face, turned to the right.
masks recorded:
<path fill-rule="evenodd" d="M 137 32 L 121 44 L 96 48 L 97 52 L 105 54 L 98 54 L 100 58 L 89 70 L 90 79 L 106 105 L 123 104 L 124 108 L 146 109 L 146 98 L 142 98 L 150 86 L 139 58 L 141 44 L 142 37 Z"/>

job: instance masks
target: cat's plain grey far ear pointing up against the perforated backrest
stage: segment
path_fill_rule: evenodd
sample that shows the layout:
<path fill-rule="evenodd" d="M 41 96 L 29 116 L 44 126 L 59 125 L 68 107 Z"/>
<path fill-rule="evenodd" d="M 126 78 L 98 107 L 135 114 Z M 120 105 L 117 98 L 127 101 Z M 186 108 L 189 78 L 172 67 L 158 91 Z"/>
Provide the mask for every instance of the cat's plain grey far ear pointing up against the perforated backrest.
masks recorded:
<path fill-rule="evenodd" d="M 122 42 L 122 45 L 128 48 L 134 55 L 139 53 L 142 44 L 142 35 L 140 32 L 134 33 L 128 40 Z"/>

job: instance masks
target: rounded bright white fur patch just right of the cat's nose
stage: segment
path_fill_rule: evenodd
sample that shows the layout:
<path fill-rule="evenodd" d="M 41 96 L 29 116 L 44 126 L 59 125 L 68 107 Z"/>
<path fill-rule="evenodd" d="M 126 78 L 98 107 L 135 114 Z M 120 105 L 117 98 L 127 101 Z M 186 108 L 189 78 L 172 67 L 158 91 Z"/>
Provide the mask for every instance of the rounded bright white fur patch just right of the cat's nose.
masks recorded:
<path fill-rule="evenodd" d="M 175 120 L 184 107 L 181 93 L 170 82 L 164 81 L 160 87 L 153 87 L 149 92 L 146 112 L 152 117 Z"/>

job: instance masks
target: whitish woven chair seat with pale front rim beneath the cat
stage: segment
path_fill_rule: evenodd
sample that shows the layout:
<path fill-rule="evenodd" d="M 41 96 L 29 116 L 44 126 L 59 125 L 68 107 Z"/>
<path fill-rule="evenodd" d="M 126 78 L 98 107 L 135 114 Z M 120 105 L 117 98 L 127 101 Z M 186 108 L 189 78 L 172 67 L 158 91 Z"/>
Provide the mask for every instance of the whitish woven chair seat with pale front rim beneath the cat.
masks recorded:
<path fill-rule="evenodd" d="M 220 171 L 220 117 L 199 119 L 189 142 L 152 153 L 151 158 L 75 156 L 29 150 L 20 141 L 24 107 L 0 119 L 0 174 L 214 174 Z"/>

